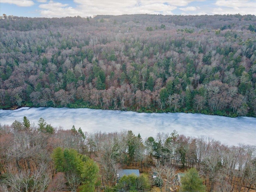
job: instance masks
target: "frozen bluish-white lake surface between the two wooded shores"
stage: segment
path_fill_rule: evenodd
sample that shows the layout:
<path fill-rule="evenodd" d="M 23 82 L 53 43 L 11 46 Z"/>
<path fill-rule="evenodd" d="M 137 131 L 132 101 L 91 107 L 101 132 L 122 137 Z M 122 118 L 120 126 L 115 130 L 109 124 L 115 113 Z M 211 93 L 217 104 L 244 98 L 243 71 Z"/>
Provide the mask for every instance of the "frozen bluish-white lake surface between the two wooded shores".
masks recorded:
<path fill-rule="evenodd" d="M 71 129 L 74 125 L 83 131 L 95 130 L 115 132 L 132 130 L 142 138 L 155 137 L 158 132 L 200 137 L 210 136 L 223 144 L 256 145 L 256 118 L 210 116 L 186 113 L 136 113 L 112 110 L 70 109 L 70 108 L 29 108 L 0 110 L 0 123 L 12 124 L 14 120 L 23 121 L 26 116 L 30 123 L 37 124 L 42 117 L 48 124 L 58 128 Z"/>

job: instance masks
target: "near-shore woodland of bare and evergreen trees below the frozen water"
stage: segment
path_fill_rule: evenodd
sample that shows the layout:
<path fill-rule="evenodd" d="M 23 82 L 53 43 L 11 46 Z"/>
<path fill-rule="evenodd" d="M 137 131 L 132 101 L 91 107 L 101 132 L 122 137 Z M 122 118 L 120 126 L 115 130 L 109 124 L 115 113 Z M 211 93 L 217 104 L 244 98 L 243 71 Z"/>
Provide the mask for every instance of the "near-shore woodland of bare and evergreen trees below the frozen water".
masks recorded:
<path fill-rule="evenodd" d="M 170 192 L 170 187 L 178 185 L 175 174 L 189 168 L 192 182 L 198 178 L 193 191 L 256 189 L 256 146 L 227 146 L 205 136 L 179 135 L 175 130 L 142 137 L 131 130 L 87 133 L 74 126 L 57 129 L 42 118 L 37 125 L 30 124 L 25 116 L 11 126 L 0 125 L 0 191 L 144 192 L 155 186 Z M 139 169 L 140 176 L 124 176 L 116 185 L 117 170 L 127 166 Z M 183 180 L 179 191 L 187 191 L 186 186 L 191 191 L 191 185 L 186 185 L 190 180 Z"/>

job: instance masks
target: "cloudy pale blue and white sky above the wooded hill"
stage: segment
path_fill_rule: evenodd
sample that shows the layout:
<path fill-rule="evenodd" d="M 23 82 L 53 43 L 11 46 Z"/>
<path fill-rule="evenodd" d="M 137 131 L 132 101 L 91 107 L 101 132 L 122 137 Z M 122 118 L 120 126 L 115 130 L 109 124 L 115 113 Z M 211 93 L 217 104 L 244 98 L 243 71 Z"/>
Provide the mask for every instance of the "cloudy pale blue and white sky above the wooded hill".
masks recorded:
<path fill-rule="evenodd" d="M 0 0 L 0 14 L 66 17 L 122 14 L 256 14 L 256 0 Z"/>

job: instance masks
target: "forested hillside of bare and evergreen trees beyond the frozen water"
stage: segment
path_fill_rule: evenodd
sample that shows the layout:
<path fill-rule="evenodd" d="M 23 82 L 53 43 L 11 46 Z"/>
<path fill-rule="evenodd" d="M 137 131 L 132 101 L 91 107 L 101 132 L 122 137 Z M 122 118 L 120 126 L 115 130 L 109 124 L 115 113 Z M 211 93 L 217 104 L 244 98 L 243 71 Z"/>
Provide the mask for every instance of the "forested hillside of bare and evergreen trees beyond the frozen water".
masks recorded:
<path fill-rule="evenodd" d="M 256 116 L 254 15 L 0 20 L 0 108 Z"/>

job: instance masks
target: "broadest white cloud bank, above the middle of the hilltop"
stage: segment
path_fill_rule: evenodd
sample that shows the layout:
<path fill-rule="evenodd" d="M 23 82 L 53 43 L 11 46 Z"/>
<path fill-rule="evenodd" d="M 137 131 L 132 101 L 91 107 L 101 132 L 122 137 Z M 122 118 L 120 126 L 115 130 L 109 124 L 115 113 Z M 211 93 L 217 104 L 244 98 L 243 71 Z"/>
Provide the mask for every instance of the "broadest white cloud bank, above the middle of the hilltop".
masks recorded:
<path fill-rule="evenodd" d="M 138 0 L 74 0 L 78 5 L 75 8 L 68 4 L 50 1 L 39 5 L 40 14 L 43 17 L 65 16 L 93 16 L 93 15 L 122 15 L 122 14 L 163 14 L 170 15 L 177 7 L 177 1 L 138 1 Z M 166 3 L 168 2 L 168 3 Z M 180 4 L 188 4 L 188 1 L 180 1 Z"/>

